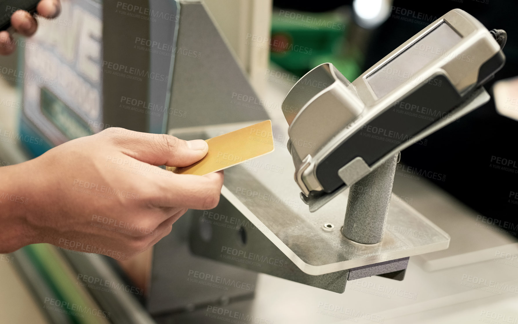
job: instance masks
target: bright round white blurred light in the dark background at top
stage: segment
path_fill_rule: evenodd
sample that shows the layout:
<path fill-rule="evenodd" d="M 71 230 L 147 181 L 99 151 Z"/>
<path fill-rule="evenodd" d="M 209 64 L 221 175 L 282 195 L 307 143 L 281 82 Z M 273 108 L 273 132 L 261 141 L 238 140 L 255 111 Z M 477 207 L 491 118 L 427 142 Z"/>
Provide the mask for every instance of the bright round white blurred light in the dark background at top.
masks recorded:
<path fill-rule="evenodd" d="M 353 9 L 358 25 L 375 28 L 390 15 L 391 0 L 354 0 Z"/>

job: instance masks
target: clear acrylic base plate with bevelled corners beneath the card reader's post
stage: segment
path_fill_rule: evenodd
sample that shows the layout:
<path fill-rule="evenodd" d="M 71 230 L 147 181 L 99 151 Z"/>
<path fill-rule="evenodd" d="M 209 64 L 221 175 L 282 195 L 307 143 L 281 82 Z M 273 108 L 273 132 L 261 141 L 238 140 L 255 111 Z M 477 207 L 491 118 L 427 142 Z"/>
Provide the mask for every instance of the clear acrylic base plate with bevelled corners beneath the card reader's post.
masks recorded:
<path fill-rule="evenodd" d="M 448 248 L 449 235 L 394 194 L 381 243 L 367 246 L 346 239 L 340 228 L 348 190 L 310 213 L 293 180 L 284 121 L 272 122 L 276 150 L 225 170 L 222 195 L 300 270 L 321 275 Z M 220 134 L 221 127 L 205 129 L 207 138 Z"/>

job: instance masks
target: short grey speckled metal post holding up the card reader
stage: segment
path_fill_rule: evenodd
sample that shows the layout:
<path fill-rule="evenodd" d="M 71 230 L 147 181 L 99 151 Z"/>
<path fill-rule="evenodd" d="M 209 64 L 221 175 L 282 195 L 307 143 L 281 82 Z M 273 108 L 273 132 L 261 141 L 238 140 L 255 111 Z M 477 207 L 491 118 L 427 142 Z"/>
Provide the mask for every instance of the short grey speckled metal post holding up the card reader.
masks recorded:
<path fill-rule="evenodd" d="M 349 189 L 342 234 L 361 244 L 380 243 L 392 195 L 398 152 Z"/>

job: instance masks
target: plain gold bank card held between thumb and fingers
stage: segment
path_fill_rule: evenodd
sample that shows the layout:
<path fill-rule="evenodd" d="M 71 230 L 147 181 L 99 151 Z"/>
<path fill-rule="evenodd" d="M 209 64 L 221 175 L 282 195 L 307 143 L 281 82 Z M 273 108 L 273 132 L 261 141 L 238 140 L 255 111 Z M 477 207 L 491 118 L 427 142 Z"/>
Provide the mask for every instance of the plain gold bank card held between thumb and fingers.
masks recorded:
<path fill-rule="evenodd" d="M 167 167 L 179 174 L 205 175 L 274 151 L 271 121 L 264 121 L 206 140 L 207 155 L 187 167 Z"/>

